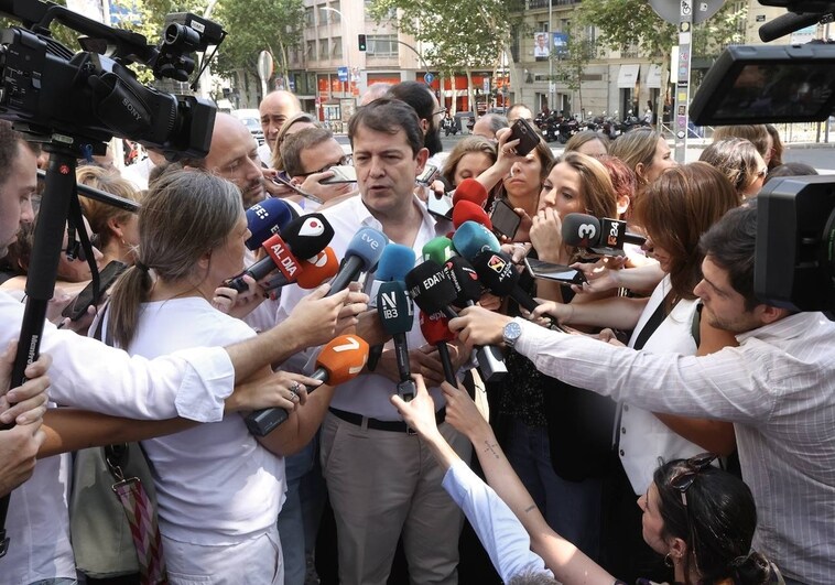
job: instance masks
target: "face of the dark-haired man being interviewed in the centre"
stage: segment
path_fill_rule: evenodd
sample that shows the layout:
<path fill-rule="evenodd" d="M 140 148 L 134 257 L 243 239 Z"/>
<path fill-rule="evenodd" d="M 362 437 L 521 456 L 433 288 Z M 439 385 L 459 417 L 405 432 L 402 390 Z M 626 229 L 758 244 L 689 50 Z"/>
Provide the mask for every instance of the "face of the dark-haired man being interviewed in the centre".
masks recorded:
<path fill-rule="evenodd" d="M 362 202 L 376 215 L 402 213 L 411 205 L 414 178 L 427 156 L 426 149 L 412 153 L 402 129 L 390 134 L 360 126 L 354 134 L 354 166 Z"/>

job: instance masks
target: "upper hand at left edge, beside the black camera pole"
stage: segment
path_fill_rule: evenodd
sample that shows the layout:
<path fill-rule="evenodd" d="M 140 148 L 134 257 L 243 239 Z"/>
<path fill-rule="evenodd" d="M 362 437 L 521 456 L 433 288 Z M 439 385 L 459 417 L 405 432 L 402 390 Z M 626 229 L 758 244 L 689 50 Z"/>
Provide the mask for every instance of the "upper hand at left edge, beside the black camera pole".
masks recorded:
<path fill-rule="evenodd" d="M 9 390 L 17 347 L 17 342 L 12 342 L 0 357 L 0 423 L 40 426 L 48 400 L 46 389 L 50 378 L 46 371 L 52 365 L 52 357 L 41 354 L 36 361 L 26 366 L 23 386 Z"/>

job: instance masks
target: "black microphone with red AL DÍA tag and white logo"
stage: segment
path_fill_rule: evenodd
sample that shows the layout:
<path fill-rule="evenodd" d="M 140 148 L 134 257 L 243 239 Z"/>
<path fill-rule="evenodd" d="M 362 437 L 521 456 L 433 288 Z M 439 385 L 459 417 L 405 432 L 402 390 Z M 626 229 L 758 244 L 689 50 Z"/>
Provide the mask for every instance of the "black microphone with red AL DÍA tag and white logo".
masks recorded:
<path fill-rule="evenodd" d="M 295 281 L 302 272 L 297 258 L 316 257 L 330 242 L 334 228 L 322 214 L 299 217 L 284 227 L 284 238 L 275 234 L 261 246 L 267 251 L 262 258 L 247 270 L 225 282 L 238 292 L 248 289 L 245 275 L 259 281 L 276 268 L 288 282 Z"/>

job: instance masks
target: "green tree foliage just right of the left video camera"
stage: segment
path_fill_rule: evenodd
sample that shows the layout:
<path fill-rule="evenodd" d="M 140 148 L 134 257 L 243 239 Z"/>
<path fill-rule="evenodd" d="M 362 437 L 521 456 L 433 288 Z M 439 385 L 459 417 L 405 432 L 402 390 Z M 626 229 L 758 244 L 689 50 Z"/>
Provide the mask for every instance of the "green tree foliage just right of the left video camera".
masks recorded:
<path fill-rule="evenodd" d="M 218 2 L 218 22 L 229 36 L 218 51 L 215 71 L 231 74 L 249 69 L 254 75 L 261 51 L 272 53 L 275 68 L 286 75 L 288 47 L 302 41 L 304 3 L 302 0 L 235 0 Z"/>

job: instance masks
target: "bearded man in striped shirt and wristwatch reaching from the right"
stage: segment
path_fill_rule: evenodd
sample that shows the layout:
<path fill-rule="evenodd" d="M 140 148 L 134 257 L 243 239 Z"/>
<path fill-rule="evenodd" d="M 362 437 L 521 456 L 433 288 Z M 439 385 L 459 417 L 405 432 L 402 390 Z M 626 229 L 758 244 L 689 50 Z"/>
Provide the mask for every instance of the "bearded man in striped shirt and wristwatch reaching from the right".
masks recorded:
<path fill-rule="evenodd" d="M 739 347 L 704 357 L 649 354 L 552 332 L 478 307 L 449 325 L 467 344 L 511 345 L 540 371 L 653 411 L 734 422 L 758 509 L 753 545 L 787 583 L 835 583 L 835 324 L 753 294 L 757 208 L 702 237 L 702 318 Z"/>

